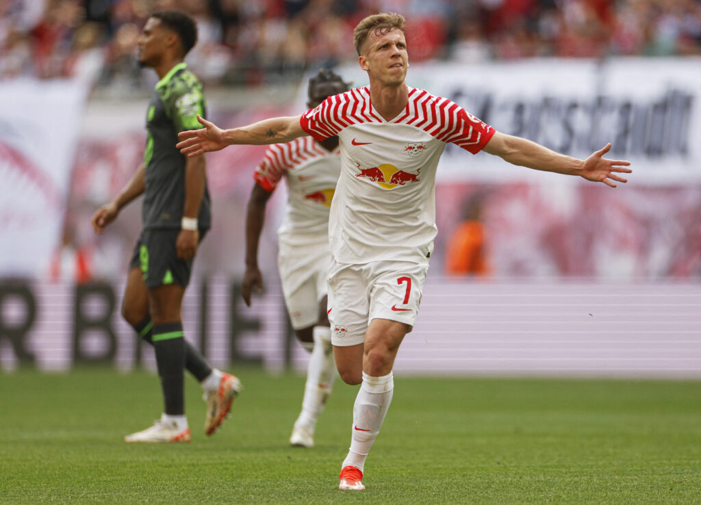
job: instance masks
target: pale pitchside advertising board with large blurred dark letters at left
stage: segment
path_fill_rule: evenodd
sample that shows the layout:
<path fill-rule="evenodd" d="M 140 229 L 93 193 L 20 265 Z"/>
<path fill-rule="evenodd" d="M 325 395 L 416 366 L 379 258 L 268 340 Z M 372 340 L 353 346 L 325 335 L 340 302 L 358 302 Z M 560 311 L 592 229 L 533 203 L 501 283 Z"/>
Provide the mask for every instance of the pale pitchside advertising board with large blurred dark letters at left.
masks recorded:
<path fill-rule="evenodd" d="M 457 281 L 429 272 L 395 373 L 701 378 L 701 290 L 683 282 Z M 0 371 L 100 364 L 155 369 L 119 314 L 123 281 L 0 285 Z M 246 307 L 235 280 L 194 279 L 186 338 L 236 371 L 304 371 L 308 354 L 269 278 Z"/>

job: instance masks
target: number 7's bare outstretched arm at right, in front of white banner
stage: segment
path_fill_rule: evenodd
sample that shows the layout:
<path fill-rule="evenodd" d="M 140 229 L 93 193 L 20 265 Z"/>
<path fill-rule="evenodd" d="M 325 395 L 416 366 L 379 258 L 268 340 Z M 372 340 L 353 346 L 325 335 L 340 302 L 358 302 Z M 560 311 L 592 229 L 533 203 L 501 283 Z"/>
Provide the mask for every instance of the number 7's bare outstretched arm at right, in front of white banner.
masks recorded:
<path fill-rule="evenodd" d="M 484 151 L 500 156 L 513 165 L 522 165 L 534 170 L 557 172 L 558 174 L 578 175 L 587 181 L 603 182 L 606 186 L 615 188 L 615 182 L 627 182 L 614 172 L 629 174 L 632 172 L 629 161 L 607 160 L 604 154 L 611 149 L 611 144 L 592 153 L 586 160 L 578 160 L 571 156 L 556 153 L 550 149 L 521 137 L 496 132 L 491 137 Z M 615 181 L 615 182 L 614 182 Z"/>

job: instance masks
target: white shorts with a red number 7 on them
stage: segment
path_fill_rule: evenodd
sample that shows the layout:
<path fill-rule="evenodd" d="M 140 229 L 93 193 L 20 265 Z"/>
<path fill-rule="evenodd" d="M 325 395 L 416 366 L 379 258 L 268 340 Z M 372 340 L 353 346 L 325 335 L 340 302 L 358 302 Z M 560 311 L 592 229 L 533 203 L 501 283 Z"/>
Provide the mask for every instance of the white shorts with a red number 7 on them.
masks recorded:
<path fill-rule="evenodd" d="M 363 343 L 372 319 L 400 321 L 413 328 L 427 272 L 428 263 L 373 261 L 348 265 L 332 259 L 328 305 L 332 344 Z"/>

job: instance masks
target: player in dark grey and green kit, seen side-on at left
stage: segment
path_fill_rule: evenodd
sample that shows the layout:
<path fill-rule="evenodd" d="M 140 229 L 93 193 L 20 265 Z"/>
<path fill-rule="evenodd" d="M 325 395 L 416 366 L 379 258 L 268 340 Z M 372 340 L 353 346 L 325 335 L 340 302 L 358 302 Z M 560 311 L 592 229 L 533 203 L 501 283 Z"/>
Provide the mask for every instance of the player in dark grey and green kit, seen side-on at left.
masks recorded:
<path fill-rule="evenodd" d="M 146 115 L 144 162 L 123 190 L 93 214 L 95 232 L 143 195 L 142 233 L 129 265 L 122 315 L 154 346 L 163 390 L 161 419 L 125 437 L 135 442 L 189 442 L 184 411 L 184 369 L 205 390 L 205 433 L 215 433 L 240 391 L 236 376 L 212 368 L 184 338 L 182 299 L 192 262 L 210 228 L 210 196 L 204 156 L 186 158 L 175 147 L 177 134 L 200 126 L 205 99 L 185 55 L 197 40 L 192 18 L 180 11 L 153 13 L 138 41 L 142 67 L 154 69 L 158 84 Z"/>

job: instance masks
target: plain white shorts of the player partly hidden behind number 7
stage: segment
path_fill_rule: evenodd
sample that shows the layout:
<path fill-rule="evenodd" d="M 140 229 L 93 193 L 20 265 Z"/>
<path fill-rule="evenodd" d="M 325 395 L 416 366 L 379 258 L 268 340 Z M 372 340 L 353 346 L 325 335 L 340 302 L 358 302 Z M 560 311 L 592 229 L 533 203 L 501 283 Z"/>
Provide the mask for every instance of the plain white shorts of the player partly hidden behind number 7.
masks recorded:
<path fill-rule="evenodd" d="M 328 242 L 297 247 L 293 254 L 278 255 L 285 306 L 295 330 L 314 326 L 318 322 L 319 302 L 328 292 L 330 261 Z"/>

